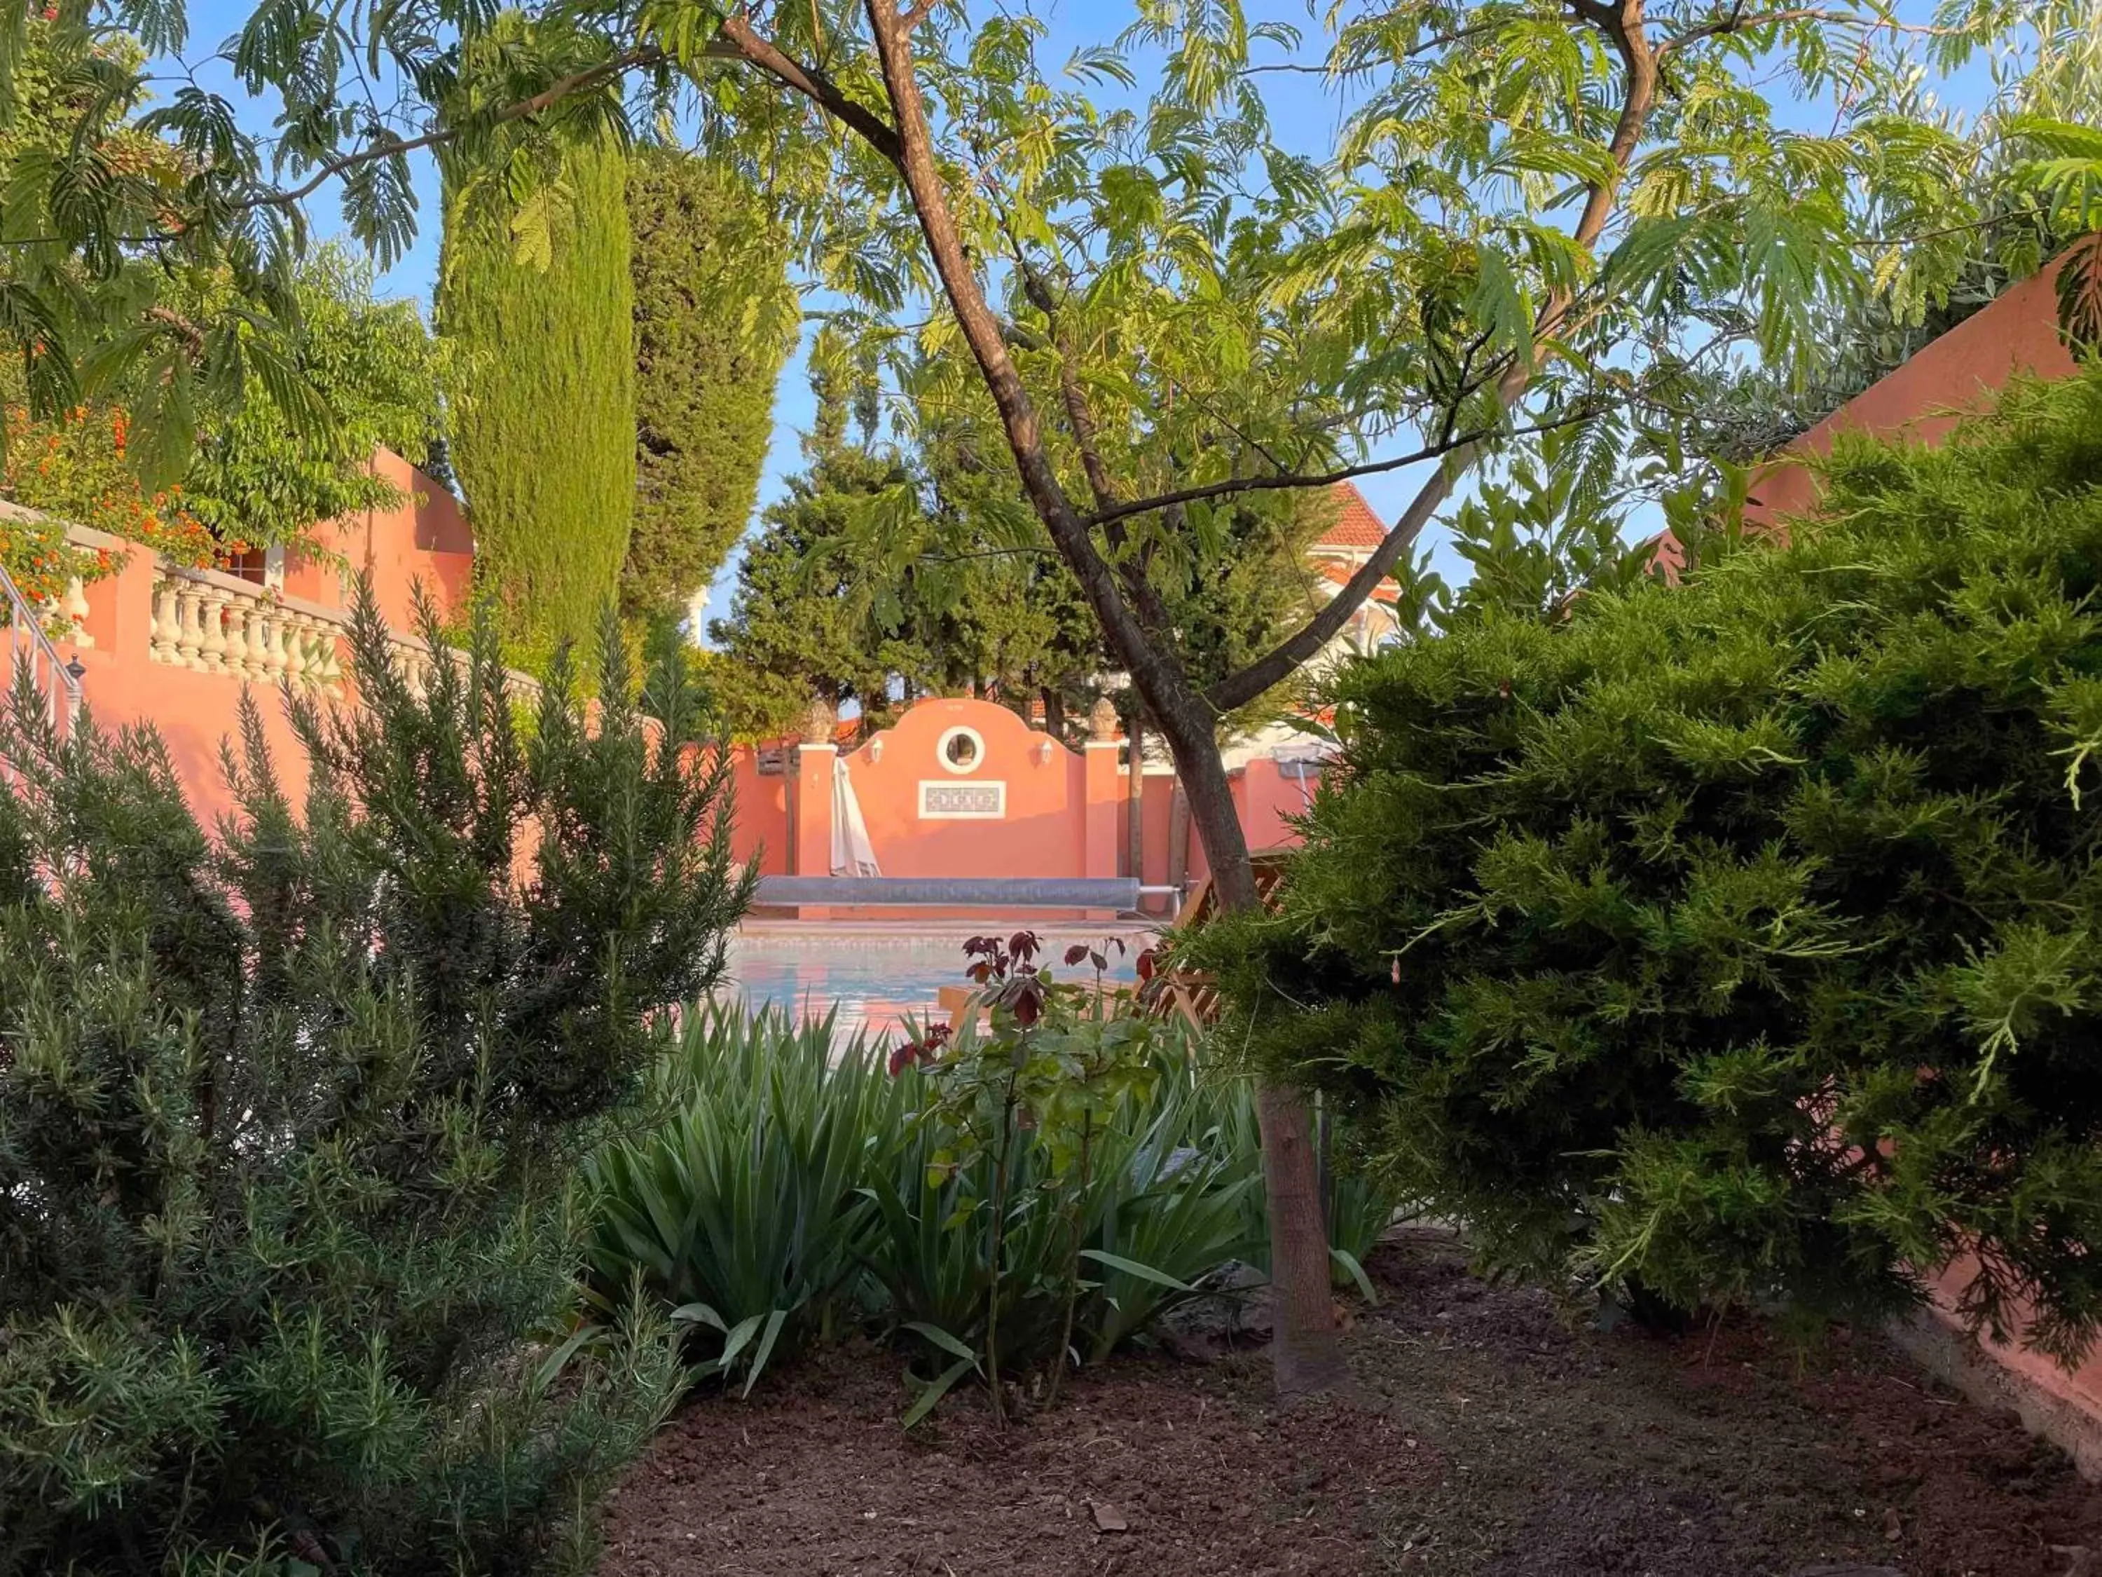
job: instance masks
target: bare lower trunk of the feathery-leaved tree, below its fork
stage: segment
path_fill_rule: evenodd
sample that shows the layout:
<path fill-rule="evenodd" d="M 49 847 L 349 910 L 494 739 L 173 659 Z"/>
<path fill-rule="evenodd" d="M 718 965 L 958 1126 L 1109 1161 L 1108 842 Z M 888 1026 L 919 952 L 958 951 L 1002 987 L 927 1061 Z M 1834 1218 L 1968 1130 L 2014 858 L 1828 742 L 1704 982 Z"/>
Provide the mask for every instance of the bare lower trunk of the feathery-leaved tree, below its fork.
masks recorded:
<path fill-rule="evenodd" d="M 1213 740 L 1211 719 L 1194 696 L 1186 715 L 1156 711 L 1175 770 L 1190 799 L 1211 889 L 1221 910 L 1255 908 L 1255 866 L 1240 831 L 1234 788 Z M 1305 1095 L 1291 1085 L 1255 1091 L 1263 1133 L 1263 1190 L 1270 1201 L 1270 1297 L 1274 1335 L 1270 1363 L 1278 1392 L 1310 1396 L 1349 1384 L 1349 1365 L 1335 1329 L 1328 1293 L 1328 1228 L 1322 1222 L 1320 1171 L 1314 1156 Z"/>

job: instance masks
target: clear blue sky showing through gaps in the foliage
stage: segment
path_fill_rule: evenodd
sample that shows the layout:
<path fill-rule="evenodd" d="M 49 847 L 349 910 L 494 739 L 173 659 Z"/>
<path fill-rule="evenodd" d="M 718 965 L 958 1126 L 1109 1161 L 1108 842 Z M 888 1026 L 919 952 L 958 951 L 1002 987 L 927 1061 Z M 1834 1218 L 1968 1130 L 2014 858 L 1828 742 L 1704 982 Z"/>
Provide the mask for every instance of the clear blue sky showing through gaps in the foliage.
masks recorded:
<path fill-rule="evenodd" d="M 246 23 L 252 8 L 252 0 L 198 0 L 191 4 L 191 40 L 185 50 L 189 59 L 202 61 L 208 57 L 217 48 L 219 40 L 235 34 Z M 1305 0 L 1249 0 L 1246 8 L 1251 21 L 1280 19 L 1305 27 L 1310 38 L 1305 57 L 1318 59 L 1318 27 L 1307 25 Z M 1928 11 L 1930 0 L 1900 0 L 1898 4 L 1898 13 L 1909 19 L 1923 19 Z M 1038 4 L 1036 13 L 1045 17 L 1049 25 L 1049 42 L 1043 50 L 1043 59 L 1062 61 L 1080 44 L 1099 44 L 1114 38 L 1114 34 L 1127 25 L 1131 6 L 1108 4 L 1106 0 L 1074 0 L 1072 4 L 1057 4 L 1057 0 L 1049 0 L 1047 4 Z M 202 86 L 225 93 L 233 101 L 242 99 L 240 86 L 219 63 L 200 65 L 195 69 L 195 78 Z M 1974 111 L 1984 101 L 1986 90 L 1986 71 L 1976 63 L 1959 78 L 1940 84 L 1942 101 L 1963 111 Z M 1265 97 L 1272 105 L 1274 124 L 1286 143 L 1305 153 L 1326 153 L 1333 143 L 1337 122 L 1343 116 L 1343 105 L 1324 93 L 1320 78 L 1295 74 L 1270 76 L 1265 80 Z M 1795 107 L 1795 114 L 1799 114 L 1806 124 L 1814 120 L 1829 120 L 1831 105 L 1804 103 Z M 1785 120 L 1793 118 L 1795 116 L 1785 114 Z M 259 130 L 269 126 L 267 105 L 254 105 L 254 126 Z M 416 244 L 393 269 L 383 275 L 383 290 L 389 294 L 414 296 L 429 305 L 431 286 L 437 278 L 439 240 L 437 179 L 429 160 L 418 164 L 416 191 L 420 200 L 420 229 Z M 311 219 L 317 233 L 330 233 L 334 212 L 326 206 L 326 200 L 317 200 L 311 210 Z M 759 490 L 761 509 L 784 492 L 784 477 L 801 465 L 801 435 L 809 427 L 813 414 L 816 404 L 809 391 L 803 351 L 799 349 L 782 372 L 776 393 L 774 444 L 767 454 Z M 1381 519 L 1394 519 L 1408 503 L 1419 482 L 1421 471 L 1408 469 L 1366 477 L 1360 488 Z M 1431 532 L 1431 545 L 1434 549 L 1442 547 L 1436 530 Z M 738 553 L 731 553 L 729 561 L 717 576 L 708 595 L 708 616 L 717 616 L 727 610 L 729 593 L 736 582 L 736 561 Z M 1446 574 L 1446 578 L 1452 578 L 1457 561 L 1450 553 L 1440 551 L 1438 568 Z"/>

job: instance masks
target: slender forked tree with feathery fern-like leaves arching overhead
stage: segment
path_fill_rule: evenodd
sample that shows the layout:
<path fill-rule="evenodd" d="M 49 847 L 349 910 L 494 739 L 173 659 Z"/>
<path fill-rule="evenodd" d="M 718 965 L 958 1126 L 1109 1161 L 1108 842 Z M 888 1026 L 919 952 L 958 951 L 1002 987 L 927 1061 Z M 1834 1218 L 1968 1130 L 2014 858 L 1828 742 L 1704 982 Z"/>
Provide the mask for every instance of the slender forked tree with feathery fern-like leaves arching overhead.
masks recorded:
<path fill-rule="evenodd" d="M 137 273 L 145 246 L 225 254 L 267 292 L 330 191 L 393 259 L 416 219 L 408 160 L 433 145 L 502 170 L 536 250 L 565 147 L 696 109 L 845 296 L 820 360 L 904 395 L 908 429 L 975 423 L 1013 469 L 1011 549 L 1076 576 L 1175 755 L 1219 898 L 1246 906 L 1215 721 L 1318 654 L 1471 465 L 1579 429 L 1564 452 L 1610 482 L 1635 448 L 1671 452 L 1703 370 L 1785 364 L 1816 303 L 1871 275 L 1917 301 L 1953 271 L 1976 219 L 1965 145 L 1915 109 L 1913 69 L 2035 13 L 1944 11 L 1915 27 L 1877 0 L 1373 0 L 1305 38 L 1234 0 L 1146 0 L 1049 61 L 1028 11 L 965 0 L 559 2 L 526 29 L 465 0 L 269 0 L 233 59 L 271 99 L 273 145 L 183 84 L 147 116 L 195 156 L 179 193 L 65 175 L 92 143 L 59 156 L 25 187 L 40 210 L 11 212 L 50 240 L 19 248 L 6 322 L 44 360 L 107 339 L 107 313 L 67 320 L 84 296 L 59 282 Z M 122 17 L 183 44 L 183 0 Z M 374 101 L 372 65 L 399 93 Z M 1307 71 L 1347 111 L 1314 149 L 1265 97 Z M 135 355 L 189 355 L 116 294 Z M 214 334 L 195 343 L 267 339 Z M 1408 465 L 1421 486 L 1349 585 L 1198 685 L 1156 580 L 1217 549 L 1223 505 L 1282 517 L 1293 490 Z M 900 568 L 887 517 L 856 528 L 872 574 Z M 1341 1360 L 1305 1112 L 1284 1087 L 1261 1110 L 1278 1377 L 1320 1388 Z"/>

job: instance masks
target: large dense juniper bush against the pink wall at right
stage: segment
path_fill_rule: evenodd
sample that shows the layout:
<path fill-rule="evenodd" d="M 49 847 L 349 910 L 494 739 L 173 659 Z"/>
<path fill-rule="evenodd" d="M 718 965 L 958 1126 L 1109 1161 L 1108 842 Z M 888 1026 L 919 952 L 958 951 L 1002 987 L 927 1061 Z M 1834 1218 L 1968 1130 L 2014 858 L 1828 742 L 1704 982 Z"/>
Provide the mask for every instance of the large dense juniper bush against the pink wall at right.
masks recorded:
<path fill-rule="evenodd" d="M 1202 948 L 1492 1257 L 1679 1308 L 2102 1318 L 2102 370 L 1682 589 L 1354 664 L 1278 919 Z M 1289 990 L 1289 997 L 1286 997 Z"/>

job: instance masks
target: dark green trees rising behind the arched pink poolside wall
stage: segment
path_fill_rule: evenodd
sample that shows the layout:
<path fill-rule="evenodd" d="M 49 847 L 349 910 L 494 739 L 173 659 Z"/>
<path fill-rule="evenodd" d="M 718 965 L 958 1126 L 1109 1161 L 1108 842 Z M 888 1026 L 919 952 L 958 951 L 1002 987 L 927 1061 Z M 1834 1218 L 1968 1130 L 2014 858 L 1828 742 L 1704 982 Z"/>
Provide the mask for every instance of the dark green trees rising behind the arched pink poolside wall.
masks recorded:
<path fill-rule="evenodd" d="M 765 511 L 731 612 L 710 624 L 727 658 L 713 683 L 738 732 L 788 730 L 813 696 L 885 713 L 975 690 L 1017 711 L 1040 700 L 1055 728 L 1083 715 L 1114 658 L 1072 572 L 1028 542 L 1011 475 L 967 442 L 904 452 L 845 429 L 841 402 L 826 400 L 807 469 Z M 1276 511 L 1221 511 L 1217 557 L 1156 568 L 1200 673 L 1230 673 L 1305 612 L 1316 595 L 1305 547 L 1331 513 L 1316 496 L 1280 530 Z M 902 568 L 870 576 L 872 553 Z"/>

